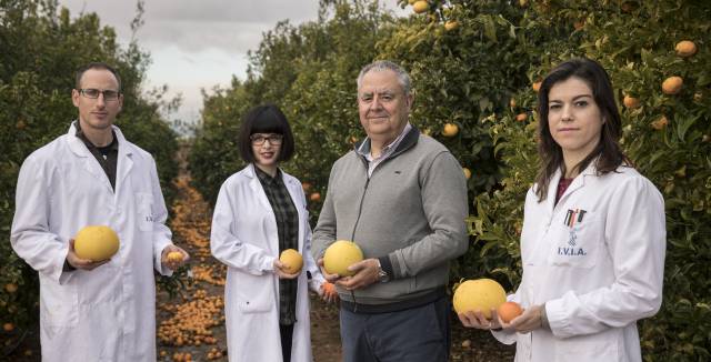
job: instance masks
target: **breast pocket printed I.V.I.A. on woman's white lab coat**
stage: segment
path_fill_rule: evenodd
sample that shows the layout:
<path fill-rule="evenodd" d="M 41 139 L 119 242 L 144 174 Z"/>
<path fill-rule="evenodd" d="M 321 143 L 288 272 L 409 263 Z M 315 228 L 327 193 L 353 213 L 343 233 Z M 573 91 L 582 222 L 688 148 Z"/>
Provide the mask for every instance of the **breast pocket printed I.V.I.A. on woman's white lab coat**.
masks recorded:
<path fill-rule="evenodd" d="M 593 212 L 583 222 L 572 225 L 558 222 L 552 238 L 548 263 L 555 267 L 592 268 L 597 264 L 600 245 L 604 242 L 604 224 Z"/>

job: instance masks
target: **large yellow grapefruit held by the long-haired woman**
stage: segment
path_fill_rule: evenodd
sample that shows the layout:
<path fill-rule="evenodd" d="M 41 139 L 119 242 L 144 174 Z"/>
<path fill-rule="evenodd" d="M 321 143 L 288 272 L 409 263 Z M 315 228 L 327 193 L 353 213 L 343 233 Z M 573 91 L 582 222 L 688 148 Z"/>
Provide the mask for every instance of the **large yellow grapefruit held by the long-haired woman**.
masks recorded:
<path fill-rule="evenodd" d="M 507 292 L 491 279 L 468 280 L 457 288 L 452 303 L 457 313 L 481 311 L 491 318 L 491 309 L 498 309 L 507 301 Z"/>

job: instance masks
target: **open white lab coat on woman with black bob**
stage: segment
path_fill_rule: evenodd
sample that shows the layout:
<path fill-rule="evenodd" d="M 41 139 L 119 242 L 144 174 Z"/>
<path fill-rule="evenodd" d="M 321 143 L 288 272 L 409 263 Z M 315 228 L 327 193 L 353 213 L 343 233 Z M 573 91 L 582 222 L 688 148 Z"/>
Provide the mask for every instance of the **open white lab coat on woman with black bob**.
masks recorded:
<path fill-rule="evenodd" d="M 282 171 L 283 182 L 299 213 L 299 252 L 304 268 L 297 290 L 297 322 L 291 361 L 309 362 L 308 270 L 312 289 L 323 282 L 310 252 L 311 228 L 301 182 Z M 210 248 L 228 265 L 224 289 L 227 345 L 231 362 L 282 361 L 279 332 L 279 276 L 273 273 L 279 258 L 277 219 L 269 199 L 249 164 L 222 183 L 212 217 Z"/>

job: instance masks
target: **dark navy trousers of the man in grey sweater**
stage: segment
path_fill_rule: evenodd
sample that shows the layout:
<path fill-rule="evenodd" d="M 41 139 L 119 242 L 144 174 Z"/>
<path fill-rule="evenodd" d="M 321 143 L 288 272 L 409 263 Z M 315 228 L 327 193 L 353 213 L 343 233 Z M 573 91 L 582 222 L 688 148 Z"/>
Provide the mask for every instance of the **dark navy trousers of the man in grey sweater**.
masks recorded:
<path fill-rule="evenodd" d="M 341 308 L 346 362 L 445 362 L 451 341 L 448 298 L 389 313 Z"/>

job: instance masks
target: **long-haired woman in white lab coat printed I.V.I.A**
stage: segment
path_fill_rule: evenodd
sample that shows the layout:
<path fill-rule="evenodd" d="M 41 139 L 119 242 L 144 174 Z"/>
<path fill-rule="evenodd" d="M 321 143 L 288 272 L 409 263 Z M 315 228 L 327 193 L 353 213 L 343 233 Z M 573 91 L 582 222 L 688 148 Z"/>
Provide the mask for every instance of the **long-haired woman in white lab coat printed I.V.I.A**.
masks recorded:
<path fill-rule="evenodd" d="M 509 323 L 462 324 L 517 343 L 517 361 L 642 361 L 637 321 L 662 301 L 664 200 L 622 153 L 621 119 L 595 61 L 555 67 L 539 90 L 540 169 L 521 233 Z"/>

